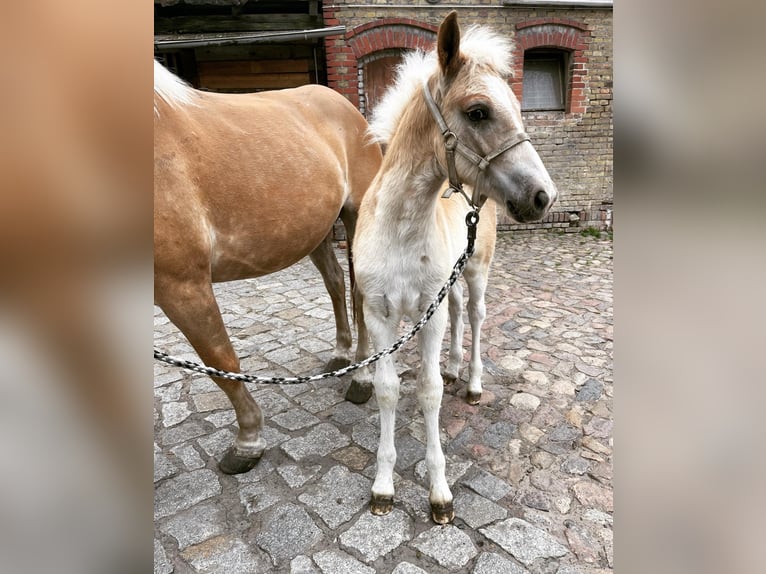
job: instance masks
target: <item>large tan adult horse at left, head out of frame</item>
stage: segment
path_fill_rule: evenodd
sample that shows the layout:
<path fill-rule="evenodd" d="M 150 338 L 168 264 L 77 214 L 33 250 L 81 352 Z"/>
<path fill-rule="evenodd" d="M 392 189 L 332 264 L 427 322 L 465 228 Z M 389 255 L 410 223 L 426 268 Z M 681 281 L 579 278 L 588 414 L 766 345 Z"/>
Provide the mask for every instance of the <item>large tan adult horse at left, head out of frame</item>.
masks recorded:
<path fill-rule="evenodd" d="M 259 277 L 309 255 L 335 312 L 328 368 L 348 364 L 345 286 L 330 234 L 340 215 L 350 247 L 358 206 L 380 166 L 380 146 L 369 141 L 362 115 L 322 86 L 207 93 L 157 62 L 154 109 L 157 305 L 206 365 L 239 371 L 211 283 Z M 239 424 L 219 466 L 246 472 L 265 448 L 263 415 L 244 383 L 213 380 Z"/>

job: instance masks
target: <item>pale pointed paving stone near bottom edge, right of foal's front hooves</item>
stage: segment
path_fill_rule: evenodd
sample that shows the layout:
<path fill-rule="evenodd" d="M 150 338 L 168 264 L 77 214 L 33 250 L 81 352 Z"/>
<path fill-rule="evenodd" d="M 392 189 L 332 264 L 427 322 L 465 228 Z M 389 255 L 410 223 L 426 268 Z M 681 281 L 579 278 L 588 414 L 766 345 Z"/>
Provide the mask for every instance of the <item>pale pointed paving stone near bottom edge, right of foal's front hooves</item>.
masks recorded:
<path fill-rule="evenodd" d="M 538 558 L 558 558 L 569 553 L 556 538 L 520 518 L 508 518 L 479 532 L 527 566 Z"/>

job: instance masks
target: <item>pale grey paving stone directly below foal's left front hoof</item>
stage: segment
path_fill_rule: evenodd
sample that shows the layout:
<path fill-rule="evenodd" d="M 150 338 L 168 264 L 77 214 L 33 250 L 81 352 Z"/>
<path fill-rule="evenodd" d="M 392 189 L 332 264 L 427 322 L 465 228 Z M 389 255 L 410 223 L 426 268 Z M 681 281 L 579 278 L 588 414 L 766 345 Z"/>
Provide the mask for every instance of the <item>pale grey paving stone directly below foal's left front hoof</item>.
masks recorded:
<path fill-rule="evenodd" d="M 394 508 L 385 516 L 363 512 L 356 523 L 340 535 L 340 542 L 360 553 L 364 561 L 370 563 L 411 538 L 412 521 L 404 512 Z"/>

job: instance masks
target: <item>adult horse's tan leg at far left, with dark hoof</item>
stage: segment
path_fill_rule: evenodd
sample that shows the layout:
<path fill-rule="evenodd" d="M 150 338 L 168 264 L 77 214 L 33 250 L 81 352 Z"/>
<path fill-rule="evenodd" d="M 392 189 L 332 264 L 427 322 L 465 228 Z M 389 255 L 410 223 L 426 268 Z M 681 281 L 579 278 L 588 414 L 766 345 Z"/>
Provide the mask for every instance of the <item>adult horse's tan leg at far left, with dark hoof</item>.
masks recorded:
<path fill-rule="evenodd" d="M 157 304 L 186 336 L 202 361 L 210 367 L 239 372 L 239 359 L 226 333 L 212 285 L 175 285 L 162 292 L 167 296 Z M 226 474 L 247 472 L 266 448 L 261 438 L 263 414 L 243 382 L 211 378 L 229 397 L 239 424 L 234 445 L 218 466 Z"/>

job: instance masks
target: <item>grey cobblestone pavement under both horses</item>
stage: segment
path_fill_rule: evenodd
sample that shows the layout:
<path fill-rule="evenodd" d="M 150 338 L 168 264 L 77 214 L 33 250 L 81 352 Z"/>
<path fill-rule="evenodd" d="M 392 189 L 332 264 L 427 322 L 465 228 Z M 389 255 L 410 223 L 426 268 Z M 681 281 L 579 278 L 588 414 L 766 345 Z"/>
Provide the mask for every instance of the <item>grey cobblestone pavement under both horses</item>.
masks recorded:
<path fill-rule="evenodd" d="M 322 370 L 334 323 L 308 260 L 216 294 L 243 370 Z M 429 517 L 414 341 L 397 356 L 396 499 L 385 517 L 367 506 L 374 398 L 345 402 L 338 379 L 250 386 L 269 448 L 255 469 L 227 476 L 216 466 L 235 433 L 224 394 L 155 363 L 154 572 L 611 572 L 611 241 L 501 235 L 487 309 L 481 404 L 464 402 L 464 380 L 442 404 L 448 526 Z M 197 360 L 159 310 L 154 324 L 155 345 Z M 466 343 L 469 333 L 466 321 Z"/>

